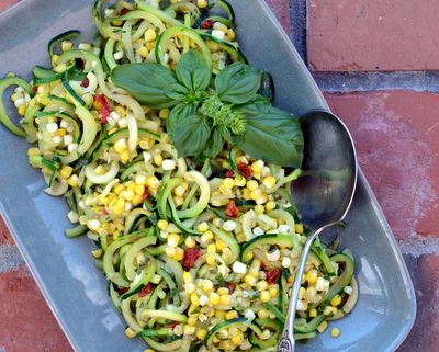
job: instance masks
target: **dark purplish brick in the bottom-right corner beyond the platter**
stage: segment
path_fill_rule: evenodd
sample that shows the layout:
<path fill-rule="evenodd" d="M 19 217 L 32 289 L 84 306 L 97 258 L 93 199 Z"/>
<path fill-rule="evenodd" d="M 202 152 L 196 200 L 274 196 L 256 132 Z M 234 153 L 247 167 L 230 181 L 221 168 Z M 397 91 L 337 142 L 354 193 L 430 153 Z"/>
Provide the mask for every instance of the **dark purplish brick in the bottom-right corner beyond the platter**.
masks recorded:
<path fill-rule="evenodd" d="M 436 352 L 439 345 L 439 254 L 405 257 L 417 299 L 417 316 L 397 352 Z"/>

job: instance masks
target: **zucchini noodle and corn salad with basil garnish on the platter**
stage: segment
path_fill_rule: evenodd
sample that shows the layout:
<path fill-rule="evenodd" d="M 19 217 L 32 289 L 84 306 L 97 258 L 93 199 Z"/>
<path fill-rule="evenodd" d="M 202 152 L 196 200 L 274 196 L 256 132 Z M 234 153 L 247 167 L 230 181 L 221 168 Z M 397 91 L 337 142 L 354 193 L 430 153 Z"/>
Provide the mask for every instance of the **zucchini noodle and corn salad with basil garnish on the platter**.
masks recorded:
<path fill-rule="evenodd" d="M 59 34 L 52 67 L 0 80 L 21 117 L 1 102 L 0 121 L 33 145 L 45 192 L 66 198 L 66 236 L 95 246 L 127 338 L 147 352 L 275 351 L 308 234 L 288 192 L 299 122 L 271 105 L 228 2 L 104 4 L 92 41 Z M 357 303 L 353 256 L 338 245 L 313 245 L 299 342 L 338 337 L 328 325 Z"/>

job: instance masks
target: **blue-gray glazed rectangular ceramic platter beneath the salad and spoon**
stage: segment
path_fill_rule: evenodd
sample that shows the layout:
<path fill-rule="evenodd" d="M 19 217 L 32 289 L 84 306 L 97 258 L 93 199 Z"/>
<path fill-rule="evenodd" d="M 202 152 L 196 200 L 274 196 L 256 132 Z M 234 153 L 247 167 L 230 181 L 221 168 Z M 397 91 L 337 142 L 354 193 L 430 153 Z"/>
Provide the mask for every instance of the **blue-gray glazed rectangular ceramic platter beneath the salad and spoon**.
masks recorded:
<path fill-rule="evenodd" d="M 295 116 L 328 109 L 313 78 L 263 0 L 230 0 L 239 42 L 251 65 L 274 79 L 274 104 Z M 48 41 L 66 30 L 92 27 L 93 0 L 23 0 L 0 15 L 0 77 L 24 78 L 47 64 Z M 90 31 L 89 31 L 90 32 Z M 9 106 L 13 111 L 12 106 Z M 0 127 L 0 212 L 49 307 L 76 351 L 144 351 L 140 339 L 124 336 L 125 322 L 106 295 L 106 281 L 94 269 L 92 243 L 67 239 L 71 226 L 63 198 L 50 197 L 37 170 L 29 166 L 24 139 Z M 356 257 L 360 299 L 353 313 L 334 322 L 341 336 L 327 332 L 307 351 L 395 351 L 416 315 L 413 285 L 381 208 L 360 172 L 346 217 L 342 246 Z M 336 229 L 334 229 L 335 231 Z M 337 229 L 340 230 L 340 229 Z"/>

